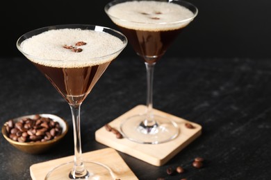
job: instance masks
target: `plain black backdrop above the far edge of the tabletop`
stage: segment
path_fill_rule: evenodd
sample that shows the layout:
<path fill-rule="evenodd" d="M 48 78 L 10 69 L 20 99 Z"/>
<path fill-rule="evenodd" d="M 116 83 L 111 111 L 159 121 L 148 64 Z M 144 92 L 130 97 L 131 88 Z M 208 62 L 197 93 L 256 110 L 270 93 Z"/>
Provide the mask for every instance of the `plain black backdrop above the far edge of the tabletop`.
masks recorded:
<path fill-rule="evenodd" d="M 199 15 L 179 35 L 167 57 L 271 57 L 271 1 L 188 0 Z M 5 1 L 1 5 L 1 56 L 22 54 L 15 46 L 22 34 L 56 24 L 95 24 L 117 28 L 104 12 L 108 1 Z M 135 56 L 127 46 L 122 56 Z"/>

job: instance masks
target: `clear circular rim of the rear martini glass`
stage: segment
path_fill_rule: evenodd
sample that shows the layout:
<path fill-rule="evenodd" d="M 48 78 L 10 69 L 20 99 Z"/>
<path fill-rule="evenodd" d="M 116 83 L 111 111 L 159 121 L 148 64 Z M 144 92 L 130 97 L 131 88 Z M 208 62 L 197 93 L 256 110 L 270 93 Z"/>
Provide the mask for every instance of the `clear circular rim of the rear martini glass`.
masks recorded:
<path fill-rule="evenodd" d="M 120 21 L 126 21 L 126 22 L 135 23 L 135 24 L 157 24 L 157 25 L 163 25 L 163 24 L 179 24 L 179 23 L 184 23 L 184 22 L 186 22 L 186 21 L 191 21 L 192 19 L 194 19 L 194 18 L 197 16 L 197 14 L 198 14 L 198 12 L 199 12 L 199 10 L 197 9 L 197 7 L 196 7 L 194 4 L 192 4 L 192 3 L 188 2 L 188 1 L 183 1 L 183 0 L 160 0 L 160 1 L 163 1 L 163 2 L 167 2 L 167 3 L 172 3 L 172 2 L 174 2 L 174 1 L 176 1 L 176 2 L 181 2 L 181 3 L 185 3 L 186 6 L 195 8 L 195 12 L 193 12 L 192 10 L 190 10 L 190 9 L 188 8 L 188 10 L 190 10 L 190 11 L 193 13 L 193 16 L 192 16 L 192 17 L 189 17 L 189 18 L 186 18 L 186 19 L 182 19 L 182 20 L 180 20 L 180 21 L 172 21 L 172 22 L 147 22 L 147 23 L 146 23 L 146 22 L 138 22 L 138 21 L 128 21 L 128 20 L 126 20 L 126 19 L 122 19 L 122 18 L 120 18 L 120 17 L 115 17 L 115 16 L 113 16 L 113 15 L 110 15 L 110 14 L 108 13 L 109 8 L 112 7 L 113 5 L 115 5 L 115 4 L 117 4 L 117 3 L 127 2 L 127 1 L 157 1 L 157 0 L 113 0 L 113 1 L 110 1 L 109 3 L 106 4 L 106 6 L 104 7 L 104 11 L 106 12 L 106 14 L 107 14 L 109 17 L 113 17 L 113 18 L 118 19 L 118 20 L 120 20 Z M 184 7 L 187 8 L 186 6 L 184 6 Z"/>

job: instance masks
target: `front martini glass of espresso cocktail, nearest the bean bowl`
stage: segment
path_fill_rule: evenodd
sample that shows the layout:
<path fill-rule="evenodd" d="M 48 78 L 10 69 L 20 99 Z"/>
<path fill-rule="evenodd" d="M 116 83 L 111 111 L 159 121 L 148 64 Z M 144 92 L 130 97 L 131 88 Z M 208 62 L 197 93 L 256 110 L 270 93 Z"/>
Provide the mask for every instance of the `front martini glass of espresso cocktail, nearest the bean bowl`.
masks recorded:
<path fill-rule="evenodd" d="M 116 30 L 85 24 L 39 28 L 17 40 L 19 51 L 53 84 L 72 111 L 74 161 L 56 165 L 45 179 L 114 179 L 108 166 L 83 161 L 80 108 L 126 44 L 126 37 Z"/>

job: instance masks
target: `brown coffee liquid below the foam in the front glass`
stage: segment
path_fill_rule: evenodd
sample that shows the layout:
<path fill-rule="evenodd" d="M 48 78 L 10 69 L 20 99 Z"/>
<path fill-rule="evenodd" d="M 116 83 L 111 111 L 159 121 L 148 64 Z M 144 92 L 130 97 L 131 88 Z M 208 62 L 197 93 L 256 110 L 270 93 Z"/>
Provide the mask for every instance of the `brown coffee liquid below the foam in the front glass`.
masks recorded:
<path fill-rule="evenodd" d="M 88 96 L 110 62 L 79 68 L 59 68 L 33 64 L 54 85 L 69 104 L 80 104 Z"/>

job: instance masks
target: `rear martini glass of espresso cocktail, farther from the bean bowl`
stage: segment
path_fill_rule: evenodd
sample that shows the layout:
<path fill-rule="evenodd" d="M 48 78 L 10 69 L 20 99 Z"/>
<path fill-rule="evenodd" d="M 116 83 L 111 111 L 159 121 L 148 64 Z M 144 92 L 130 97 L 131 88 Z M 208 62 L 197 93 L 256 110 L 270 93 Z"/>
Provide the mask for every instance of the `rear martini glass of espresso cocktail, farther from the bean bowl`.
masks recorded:
<path fill-rule="evenodd" d="M 197 8 L 182 0 L 114 0 L 104 10 L 129 39 L 147 69 L 146 110 L 124 120 L 120 125 L 122 134 L 136 143 L 171 141 L 179 134 L 178 125 L 153 112 L 154 66 L 181 30 L 197 16 Z"/>

